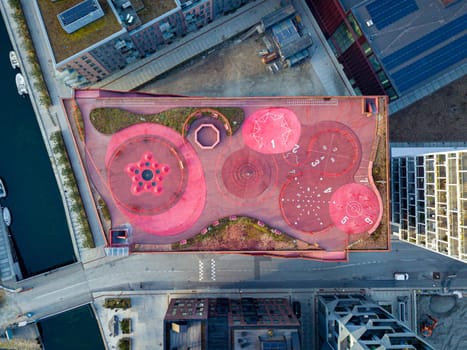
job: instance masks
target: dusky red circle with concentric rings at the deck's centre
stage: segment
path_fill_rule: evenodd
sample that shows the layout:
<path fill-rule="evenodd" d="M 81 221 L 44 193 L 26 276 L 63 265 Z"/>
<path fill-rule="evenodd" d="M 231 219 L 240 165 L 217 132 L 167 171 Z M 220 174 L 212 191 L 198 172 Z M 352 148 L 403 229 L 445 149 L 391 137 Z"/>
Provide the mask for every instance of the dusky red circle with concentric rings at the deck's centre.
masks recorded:
<path fill-rule="evenodd" d="M 225 188 L 231 194 L 249 199 L 258 197 L 268 188 L 273 169 L 264 156 L 243 148 L 224 161 L 221 175 Z"/>

